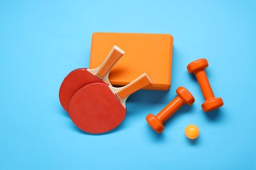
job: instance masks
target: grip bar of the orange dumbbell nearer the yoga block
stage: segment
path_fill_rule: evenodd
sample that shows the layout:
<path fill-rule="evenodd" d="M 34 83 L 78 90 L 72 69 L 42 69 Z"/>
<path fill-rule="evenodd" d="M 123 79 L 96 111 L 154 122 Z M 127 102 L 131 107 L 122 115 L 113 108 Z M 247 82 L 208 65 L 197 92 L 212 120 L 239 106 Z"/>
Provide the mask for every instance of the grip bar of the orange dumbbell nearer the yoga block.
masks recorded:
<path fill-rule="evenodd" d="M 168 118 L 170 118 L 180 107 L 184 105 L 183 99 L 177 96 L 173 101 L 171 101 L 163 110 L 161 110 L 156 117 L 164 123 Z"/>

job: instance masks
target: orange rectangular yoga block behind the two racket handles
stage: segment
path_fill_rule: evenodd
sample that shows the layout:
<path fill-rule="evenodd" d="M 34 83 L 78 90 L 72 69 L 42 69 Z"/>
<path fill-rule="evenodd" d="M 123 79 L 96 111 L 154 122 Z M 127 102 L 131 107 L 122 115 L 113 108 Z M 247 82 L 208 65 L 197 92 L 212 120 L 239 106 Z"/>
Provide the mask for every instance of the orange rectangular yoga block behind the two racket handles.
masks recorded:
<path fill-rule="evenodd" d="M 124 50 L 125 55 L 110 71 L 109 80 L 113 86 L 125 86 L 142 73 L 146 73 L 152 84 L 143 89 L 169 90 L 173 53 L 171 35 L 93 33 L 89 68 L 100 66 L 114 45 Z"/>

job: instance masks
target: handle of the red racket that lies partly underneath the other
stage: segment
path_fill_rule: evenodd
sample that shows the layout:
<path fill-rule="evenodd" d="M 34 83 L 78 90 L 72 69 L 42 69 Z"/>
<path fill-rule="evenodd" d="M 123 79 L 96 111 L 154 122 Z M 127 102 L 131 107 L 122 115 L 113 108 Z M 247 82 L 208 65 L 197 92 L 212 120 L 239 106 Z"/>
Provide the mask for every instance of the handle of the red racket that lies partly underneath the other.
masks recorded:
<path fill-rule="evenodd" d="M 100 69 L 98 69 L 96 76 L 103 79 L 104 76 L 110 72 L 110 69 L 112 69 L 115 63 L 121 58 L 121 56 L 123 56 L 123 54 L 125 54 L 123 50 L 117 46 L 114 46 L 105 61 L 102 63 Z"/>

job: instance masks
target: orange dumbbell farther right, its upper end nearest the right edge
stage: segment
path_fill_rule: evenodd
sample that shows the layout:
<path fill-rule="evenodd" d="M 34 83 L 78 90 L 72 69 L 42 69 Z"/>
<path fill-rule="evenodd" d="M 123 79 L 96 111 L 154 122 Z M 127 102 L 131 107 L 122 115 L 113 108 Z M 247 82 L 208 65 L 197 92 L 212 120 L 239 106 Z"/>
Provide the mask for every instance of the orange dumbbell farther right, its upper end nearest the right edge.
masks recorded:
<path fill-rule="evenodd" d="M 203 111 L 211 111 L 217 109 L 223 105 L 223 99 L 221 97 L 215 97 L 211 85 L 206 76 L 205 69 L 208 67 L 207 59 L 198 59 L 188 64 L 186 67 L 188 73 L 195 73 L 196 79 L 203 92 L 205 102 L 202 104 Z"/>

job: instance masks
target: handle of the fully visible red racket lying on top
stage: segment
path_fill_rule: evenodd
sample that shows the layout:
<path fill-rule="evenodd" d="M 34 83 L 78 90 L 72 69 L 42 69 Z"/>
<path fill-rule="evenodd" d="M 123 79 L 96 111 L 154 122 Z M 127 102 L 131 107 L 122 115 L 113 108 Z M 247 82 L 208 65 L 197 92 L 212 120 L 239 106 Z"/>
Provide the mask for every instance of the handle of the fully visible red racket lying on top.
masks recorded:
<path fill-rule="evenodd" d="M 137 92 L 138 90 L 144 88 L 144 86 L 147 86 L 150 83 L 152 82 L 148 75 L 146 75 L 146 73 L 143 73 L 141 76 L 133 80 L 133 82 L 130 82 L 119 92 L 117 92 L 116 95 L 117 97 L 119 97 L 120 100 L 125 99 L 125 97 L 128 97 L 132 93 Z"/>

